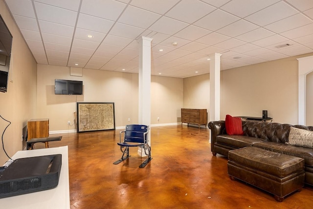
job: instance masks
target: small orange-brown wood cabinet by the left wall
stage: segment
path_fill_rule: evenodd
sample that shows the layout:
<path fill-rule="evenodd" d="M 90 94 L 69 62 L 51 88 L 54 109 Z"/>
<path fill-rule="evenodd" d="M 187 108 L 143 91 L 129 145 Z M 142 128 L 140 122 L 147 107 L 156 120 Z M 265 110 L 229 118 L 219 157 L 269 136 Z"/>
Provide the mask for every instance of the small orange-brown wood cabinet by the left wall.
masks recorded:
<path fill-rule="evenodd" d="M 45 137 L 49 137 L 48 118 L 31 119 L 27 121 L 27 140 Z"/>

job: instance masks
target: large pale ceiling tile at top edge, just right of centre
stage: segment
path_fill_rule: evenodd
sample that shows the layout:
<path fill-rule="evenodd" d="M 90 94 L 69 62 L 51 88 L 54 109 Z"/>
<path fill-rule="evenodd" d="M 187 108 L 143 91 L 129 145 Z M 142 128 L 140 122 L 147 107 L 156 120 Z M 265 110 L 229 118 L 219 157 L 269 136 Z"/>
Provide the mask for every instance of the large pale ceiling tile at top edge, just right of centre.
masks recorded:
<path fill-rule="evenodd" d="M 167 17 L 180 20 L 185 23 L 193 23 L 215 9 L 215 7 L 203 3 L 199 0 L 181 0 L 165 15 Z"/>

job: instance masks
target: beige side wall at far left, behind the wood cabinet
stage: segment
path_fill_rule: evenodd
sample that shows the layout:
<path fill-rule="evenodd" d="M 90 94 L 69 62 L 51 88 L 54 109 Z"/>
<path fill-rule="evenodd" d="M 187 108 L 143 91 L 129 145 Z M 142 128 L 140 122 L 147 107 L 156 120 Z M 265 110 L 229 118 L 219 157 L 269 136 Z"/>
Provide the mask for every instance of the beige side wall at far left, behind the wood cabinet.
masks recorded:
<path fill-rule="evenodd" d="M 13 82 L 8 82 L 7 93 L 0 92 L 0 115 L 11 125 L 3 136 L 4 148 L 12 157 L 22 150 L 22 129 L 27 120 L 35 116 L 37 99 L 37 64 L 26 46 L 22 35 L 8 12 L 3 0 L 0 0 L 0 14 L 13 36 L 12 59 L 9 73 Z M 0 134 L 8 122 L 0 118 Z M 0 149 L 0 165 L 8 160 Z"/>

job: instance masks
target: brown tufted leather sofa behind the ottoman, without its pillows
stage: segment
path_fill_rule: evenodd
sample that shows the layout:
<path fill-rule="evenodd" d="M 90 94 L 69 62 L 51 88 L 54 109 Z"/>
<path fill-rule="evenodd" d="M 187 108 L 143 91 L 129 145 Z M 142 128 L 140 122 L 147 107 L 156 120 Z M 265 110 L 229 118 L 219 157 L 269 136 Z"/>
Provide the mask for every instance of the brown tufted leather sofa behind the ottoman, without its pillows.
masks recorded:
<path fill-rule="evenodd" d="M 247 146 L 303 158 L 305 161 L 305 184 L 313 186 L 313 149 L 287 144 L 290 127 L 313 131 L 313 126 L 269 123 L 243 120 L 244 135 L 227 135 L 225 121 L 211 121 L 211 151 L 214 156 L 228 157 L 228 151 Z"/>

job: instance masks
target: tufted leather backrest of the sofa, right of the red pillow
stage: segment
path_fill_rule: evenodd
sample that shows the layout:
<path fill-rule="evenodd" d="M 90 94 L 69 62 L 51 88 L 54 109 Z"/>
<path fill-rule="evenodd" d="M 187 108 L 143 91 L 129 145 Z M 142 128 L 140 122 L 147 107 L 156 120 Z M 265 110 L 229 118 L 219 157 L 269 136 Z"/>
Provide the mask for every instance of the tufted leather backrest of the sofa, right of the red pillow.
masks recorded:
<path fill-rule="evenodd" d="M 288 142 L 291 126 L 313 131 L 313 126 L 243 120 L 244 135 L 248 137 L 261 138 L 272 142 Z"/>

